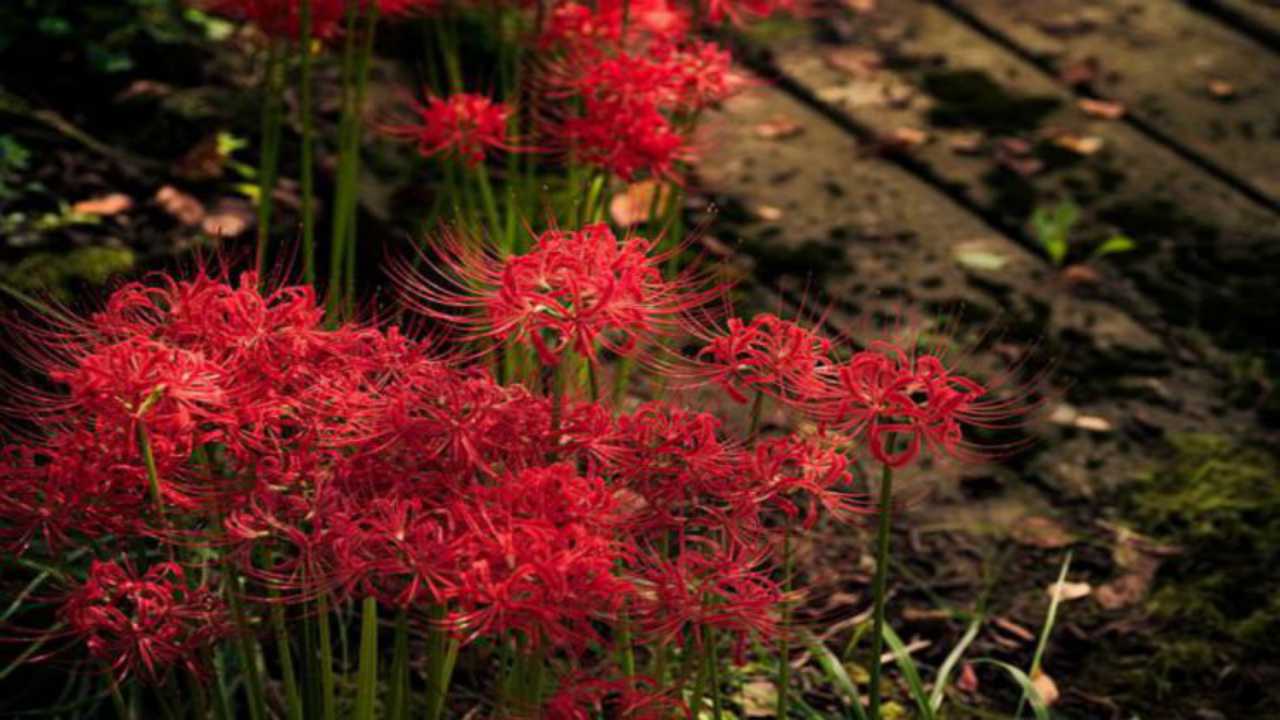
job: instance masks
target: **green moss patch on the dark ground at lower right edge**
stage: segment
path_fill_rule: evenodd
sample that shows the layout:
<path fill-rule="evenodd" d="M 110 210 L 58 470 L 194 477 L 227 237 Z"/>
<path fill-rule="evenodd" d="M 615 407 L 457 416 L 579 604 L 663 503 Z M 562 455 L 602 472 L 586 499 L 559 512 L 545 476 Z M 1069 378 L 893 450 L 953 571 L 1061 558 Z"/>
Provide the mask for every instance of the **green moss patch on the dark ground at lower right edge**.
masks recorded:
<path fill-rule="evenodd" d="M 1158 697 L 1194 697 L 1222 692 L 1224 669 L 1280 665 L 1280 459 L 1222 436 L 1174 436 L 1170 443 L 1172 459 L 1121 501 L 1138 529 L 1180 548 L 1147 598 L 1156 632 L 1133 679 Z M 1248 675 L 1235 671 L 1224 702 L 1247 712 L 1280 700 L 1274 684 Z"/>

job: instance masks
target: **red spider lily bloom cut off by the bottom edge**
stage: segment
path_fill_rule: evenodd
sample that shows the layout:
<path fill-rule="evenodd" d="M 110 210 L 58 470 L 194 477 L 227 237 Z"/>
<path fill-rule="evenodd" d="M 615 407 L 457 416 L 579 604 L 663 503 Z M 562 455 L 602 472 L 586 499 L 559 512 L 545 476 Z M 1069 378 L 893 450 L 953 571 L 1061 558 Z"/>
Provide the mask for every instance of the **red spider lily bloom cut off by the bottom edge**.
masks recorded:
<path fill-rule="evenodd" d="M 692 717 L 689 706 L 666 694 L 658 683 L 643 675 L 618 680 L 593 678 L 573 673 L 561 679 L 556 694 L 547 701 L 540 720 L 671 720 L 672 716 Z"/>

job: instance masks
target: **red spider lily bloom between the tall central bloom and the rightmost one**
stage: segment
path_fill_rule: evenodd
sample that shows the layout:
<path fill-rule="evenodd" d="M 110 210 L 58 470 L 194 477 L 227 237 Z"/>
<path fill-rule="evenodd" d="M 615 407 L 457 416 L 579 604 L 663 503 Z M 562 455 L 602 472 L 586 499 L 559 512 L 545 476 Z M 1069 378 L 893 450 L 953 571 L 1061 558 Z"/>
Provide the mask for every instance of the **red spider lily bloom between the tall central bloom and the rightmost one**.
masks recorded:
<path fill-rule="evenodd" d="M 730 318 L 723 331 L 695 328 L 707 346 L 690 369 L 675 369 L 689 380 L 712 380 L 737 402 L 763 392 L 782 401 L 803 402 L 822 393 L 820 375 L 832 364 L 829 340 L 799 323 L 773 314 L 744 322 Z"/>

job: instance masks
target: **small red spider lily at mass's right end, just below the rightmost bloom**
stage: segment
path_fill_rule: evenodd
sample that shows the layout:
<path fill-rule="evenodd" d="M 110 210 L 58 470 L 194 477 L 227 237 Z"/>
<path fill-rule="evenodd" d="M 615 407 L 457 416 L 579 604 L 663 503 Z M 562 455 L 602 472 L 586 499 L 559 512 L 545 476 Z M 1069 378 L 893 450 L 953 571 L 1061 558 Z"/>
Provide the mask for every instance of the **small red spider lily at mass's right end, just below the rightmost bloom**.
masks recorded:
<path fill-rule="evenodd" d="M 746 454 L 746 475 L 753 500 L 774 505 L 790 519 L 797 518 L 797 496 L 808 498 L 804 528 L 818 521 L 818 506 L 836 519 L 869 512 L 865 496 L 851 491 L 849 459 L 831 442 L 818 437 L 783 436 L 765 438 Z"/>

